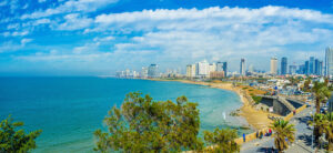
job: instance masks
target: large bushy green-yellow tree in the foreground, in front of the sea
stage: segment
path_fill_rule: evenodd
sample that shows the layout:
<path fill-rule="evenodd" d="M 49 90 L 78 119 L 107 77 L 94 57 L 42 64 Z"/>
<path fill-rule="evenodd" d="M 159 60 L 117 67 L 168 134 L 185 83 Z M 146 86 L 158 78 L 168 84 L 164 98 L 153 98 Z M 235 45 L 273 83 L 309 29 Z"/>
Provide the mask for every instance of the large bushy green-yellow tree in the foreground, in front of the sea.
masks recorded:
<path fill-rule="evenodd" d="M 202 150 L 198 139 L 200 118 L 196 103 L 185 96 L 172 101 L 153 101 L 139 92 L 127 94 L 120 109 L 115 106 L 104 119 L 108 133 L 94 132 L 94 151 L 180 152 Z"/>

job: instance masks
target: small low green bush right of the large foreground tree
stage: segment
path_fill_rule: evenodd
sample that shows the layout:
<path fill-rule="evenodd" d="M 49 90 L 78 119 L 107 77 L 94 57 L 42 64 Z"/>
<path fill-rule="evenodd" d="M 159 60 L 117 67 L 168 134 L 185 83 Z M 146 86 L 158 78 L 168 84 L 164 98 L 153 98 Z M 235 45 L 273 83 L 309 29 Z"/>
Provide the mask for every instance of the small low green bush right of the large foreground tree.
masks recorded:
<path fill-rule="evenodd" d="M 215 129 L 214 132 L 204 131 L 204 141 L 209 145 L 204 152 L 234 153 L 240 152 L 240 145 L 234 142 L 238 137 L 235 130 Z"/>

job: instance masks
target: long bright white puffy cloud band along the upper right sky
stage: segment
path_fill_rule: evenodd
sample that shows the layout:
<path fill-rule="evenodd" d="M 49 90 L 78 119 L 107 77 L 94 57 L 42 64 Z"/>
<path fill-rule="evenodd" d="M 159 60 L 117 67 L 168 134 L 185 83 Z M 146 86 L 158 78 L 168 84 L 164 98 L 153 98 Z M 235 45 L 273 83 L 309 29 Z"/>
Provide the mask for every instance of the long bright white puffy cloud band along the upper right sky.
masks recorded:
<path fill-rule="evenodd" d="M 98 16 L 95 22 L 103 24 L 113 23 L 133 23 L 138 21 L 193 21 L 193 20 L 214 20 L 222 19 L 239 23 L 250 23 L 258 21 L 259 23 L 269 22 L 272 19 L 300 19 L 312 22 L 333 23 L 331 14 L 323 14 L 314 10 L 289 9 L 284 7 L 263 7 L 260 9 L 248 8 L 208 8 L 198 9 L 178 9 L 178 10 L 143 10 L 137 12 L 111 13 Z M 221 21 L 223 22 L 223 21 Z M 280 21 L 281 22 L 281 21 Z"/>

